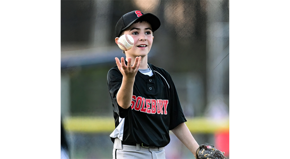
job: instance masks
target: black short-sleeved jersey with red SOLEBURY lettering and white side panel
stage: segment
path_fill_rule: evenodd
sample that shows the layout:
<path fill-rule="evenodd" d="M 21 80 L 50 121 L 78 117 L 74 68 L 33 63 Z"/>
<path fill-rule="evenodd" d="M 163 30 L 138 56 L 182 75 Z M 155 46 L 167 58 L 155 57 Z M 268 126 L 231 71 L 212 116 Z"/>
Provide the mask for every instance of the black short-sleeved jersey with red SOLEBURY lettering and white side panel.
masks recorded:
<path fill-rule="evenodd" d="M 137 72 L 132 103 L 128 109 L 117 103 L 116 95 L 122 84 L 122 73 L 118 67 L 108 72 L 108 88 L 116 127 L 110 135 L 113 142 L 118 137 L 125 142 L 165 147 L 170 142 L 169 130 L 187 121 L 169 73 L 150 63 L 148 66 L 153 75 L 150 77 Z"/>

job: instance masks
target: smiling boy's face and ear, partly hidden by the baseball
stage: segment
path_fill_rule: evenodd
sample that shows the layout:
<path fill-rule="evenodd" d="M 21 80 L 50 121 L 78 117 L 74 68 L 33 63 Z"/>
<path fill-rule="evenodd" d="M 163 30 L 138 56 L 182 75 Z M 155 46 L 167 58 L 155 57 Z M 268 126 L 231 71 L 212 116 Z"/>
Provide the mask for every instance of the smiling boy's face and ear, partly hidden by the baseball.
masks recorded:
<path fill-rule="evenodd" d="M 125 51 L 127 57 L 132 57 L 135 59 L 137 56 L 146 56 L 152 46 L 153 33 L 151 24 L 148 22 L 137 22 L 127 28 L 123 34 L 131 35 L 134 39 L 134 46 Z M 116 43 L 118 43 L 118 38 L 116 38 Z"/>

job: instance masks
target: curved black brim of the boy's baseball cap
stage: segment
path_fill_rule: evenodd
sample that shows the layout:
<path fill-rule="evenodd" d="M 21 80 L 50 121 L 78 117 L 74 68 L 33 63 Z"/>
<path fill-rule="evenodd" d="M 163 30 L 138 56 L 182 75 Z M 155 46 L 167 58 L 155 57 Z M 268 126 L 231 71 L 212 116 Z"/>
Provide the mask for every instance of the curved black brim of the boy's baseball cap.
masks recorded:
<path fill-rule="evenodd" d="M 161 25 L 161 22 L 160 22 L 160 20 L 159 20 L 158 17 L 156 17 L 154 14 L 146 13 L 146 14 L 143 14 L 142 16 L 140 16 L 139 18 L 135 19 L 130 24 L 128 24 L 124 29 L 122 29 L 122 31 L 126 30 L 133 23 L 138 22 L 138 21 L 146 21 L 146 22 L 149 22 L 151 24 L 151 27 L 152 27 L 152 31 L 153 32 L 156 31 L 160 27 L 160 25 Z"/>

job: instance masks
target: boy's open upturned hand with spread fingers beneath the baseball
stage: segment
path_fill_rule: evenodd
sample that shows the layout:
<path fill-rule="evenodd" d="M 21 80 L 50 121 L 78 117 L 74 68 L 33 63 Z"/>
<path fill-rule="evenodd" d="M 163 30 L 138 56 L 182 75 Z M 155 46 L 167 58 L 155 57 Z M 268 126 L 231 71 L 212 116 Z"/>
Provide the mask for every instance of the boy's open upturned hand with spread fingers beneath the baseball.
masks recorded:
<path fill-rule="evenodd" d="M 141 56 L 136 57 L 133 66 L 131 65 L 132 63 L 131 57 L 128 58 L 128 66 L 126 66 L 125 59 L 123 57 L 121 58 L 121 62 L 117 57 L 115 58 L 115 60 L 116 60 L 118 69 L 121 71 L 124 77 L 135 78 L 141 64 Z"/>

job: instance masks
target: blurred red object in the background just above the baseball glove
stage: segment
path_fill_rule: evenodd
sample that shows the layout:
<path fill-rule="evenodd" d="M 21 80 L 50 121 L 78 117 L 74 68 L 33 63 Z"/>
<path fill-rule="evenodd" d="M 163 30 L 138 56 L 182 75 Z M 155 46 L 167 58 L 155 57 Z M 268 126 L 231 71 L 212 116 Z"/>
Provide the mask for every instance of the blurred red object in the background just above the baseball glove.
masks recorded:
<path fill-rule="evenodd" d="M 225 152 L 225 157 L 230 156 L 230 132 L 221 132 L 214 135 L 214 147 L 222 152 Z"/>

